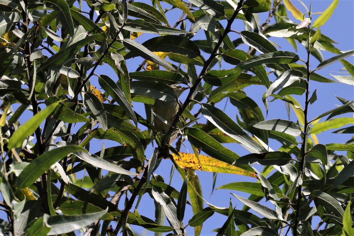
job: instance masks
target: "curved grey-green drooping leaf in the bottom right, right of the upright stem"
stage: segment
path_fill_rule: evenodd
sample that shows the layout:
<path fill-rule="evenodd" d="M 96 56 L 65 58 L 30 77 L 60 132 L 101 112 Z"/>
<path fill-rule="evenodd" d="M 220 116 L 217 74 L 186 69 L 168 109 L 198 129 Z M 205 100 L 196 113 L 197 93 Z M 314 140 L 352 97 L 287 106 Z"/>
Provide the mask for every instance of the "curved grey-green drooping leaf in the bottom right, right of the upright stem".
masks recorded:
<path fill-rule="evenodd" d="M 311 197 L 315 197 L 316 207 L 322 206 L 328 214 L 335 215 L 341 222 L 343 220 L 344 210 L 341 204 L 331 195 L 320 190 L 314 190 L 310 193 Z"/>

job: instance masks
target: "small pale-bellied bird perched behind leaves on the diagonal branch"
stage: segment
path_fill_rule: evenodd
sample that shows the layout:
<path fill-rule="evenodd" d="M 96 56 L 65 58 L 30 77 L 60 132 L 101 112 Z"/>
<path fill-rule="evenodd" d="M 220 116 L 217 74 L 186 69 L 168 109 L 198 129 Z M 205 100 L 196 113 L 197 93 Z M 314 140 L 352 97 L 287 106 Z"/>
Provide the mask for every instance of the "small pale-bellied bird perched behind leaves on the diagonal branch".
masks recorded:
<path fill-rule="evenodd" d="M 178 97 L 182 94 L 182 92 L 188 87 L 182 87 L 180 85 L 170 85 L 170 87 L 173 89 L 176 95 L 176 100 L 173 102 L 166 102 L 162 101 L 159 99 L 155 99 L 154 103 L 154 126 L 156 131 L 158 131 L 160 134 L 166 134 L 169 132 L 172 122 L 175 119 L 175 116 L 178 112 L 179 109 L 179 103 L 178 103 Z M 172 141 L 176 139 L 176 136 L 168 137 L 166 139 L 162 139 L 161 143 L 164 143 L 166 140 L 166 145 L 164 145 L 162 148 L 160 148 L 160 153 L 158 154 L 159 158 L 168 158 L 170 156 L 170 149 L 169 149 L 169 144 L 172 143 Z"/>

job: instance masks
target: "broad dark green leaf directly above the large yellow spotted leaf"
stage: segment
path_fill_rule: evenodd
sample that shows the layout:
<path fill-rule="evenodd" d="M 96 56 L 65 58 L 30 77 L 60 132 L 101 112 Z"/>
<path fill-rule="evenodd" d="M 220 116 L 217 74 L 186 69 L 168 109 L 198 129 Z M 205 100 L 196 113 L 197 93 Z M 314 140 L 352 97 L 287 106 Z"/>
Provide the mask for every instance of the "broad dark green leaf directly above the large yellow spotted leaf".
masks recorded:
<path fill-rule="evenodd" d="M 188 128 L 188 141 L 196 148 L 202 149 L 209 156 L 229 164 L 232 164 L 235 160 L 240 158 L 235 152 L 225 148 L 222 144 L 200 129 Z M 254 172 L 249 165 L 235 166 Z"/>

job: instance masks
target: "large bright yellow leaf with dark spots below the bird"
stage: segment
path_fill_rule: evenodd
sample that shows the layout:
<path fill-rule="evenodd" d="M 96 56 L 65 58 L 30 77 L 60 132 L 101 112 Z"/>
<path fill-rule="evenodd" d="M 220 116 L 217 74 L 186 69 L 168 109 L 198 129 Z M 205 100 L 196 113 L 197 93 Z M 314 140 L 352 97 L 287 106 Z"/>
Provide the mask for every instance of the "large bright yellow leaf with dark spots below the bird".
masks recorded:
<path fill-rule="evenodd" d="M 230 165 L 226 162 L 219 161 L 215 158 L 205 155 L 199 155 L 199 161 L 195 154 L 178 152 L 181 159 L 176 154 L 172 154 L 173 159 L 182 168 L 197 169 L 200 171 L 210 171 L 217 173 L 229 173 L 229 174 L 241 174 L 257 178 L 257 175 L 253 172 L 246 171 L 239 167 Z"/>

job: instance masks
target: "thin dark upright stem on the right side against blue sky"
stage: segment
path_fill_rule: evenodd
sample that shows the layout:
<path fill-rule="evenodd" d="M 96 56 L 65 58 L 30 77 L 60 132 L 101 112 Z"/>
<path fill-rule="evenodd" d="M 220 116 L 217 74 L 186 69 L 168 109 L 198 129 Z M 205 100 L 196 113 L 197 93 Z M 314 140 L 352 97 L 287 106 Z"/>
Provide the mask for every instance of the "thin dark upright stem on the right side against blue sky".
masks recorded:
<path fill-rule="evenodd" d="M 311 13 L 309 13 L 309 17 L 311 17 Z M 304 168 L 305 168 L 305 155 L 306 155 L 306 146 L 307 146 L 307 130 L 309 126 L 309 122 L 307 120 L 308 116 L 308 105 L 310 103 L 309 101 L 309 84 L 310 84 L 310 76 L 312 71 L 310 71 L 310 54 L 311 54 L 311 44 L 310 44 L 310 33 L 311 33 L 311 27 L 308 25 L 308 30 L 309 34 L 307 36 L 307 61 L 306 61 L 306 68 L 307 68 L 307 81 L 306 81 L 306 94 L 305 94 L 305 109 L 304 109 L 304 132 L 303 132 L 303 138 L 302 138 L 302 144 L 301 144 L 301 160 L 300 160 L 300 168 L 299 168 L 299 174 L 301 174 L 301 179 L 303 178 L 303 173 L 304 173 Z M 298 186 L 298 194 L 297 194 L 297 204 L 296 204 L 296 217 L 295 217 L 295 223 L 294 223 L 294 232 L 293 235 L 298 235 L 297 233 L 297 227 L 299 225 L 299 215 L 300 215 L 300 210 L 301 210 L 301 199 L 302 199 L 302 184 L 299 184 Z"/>

